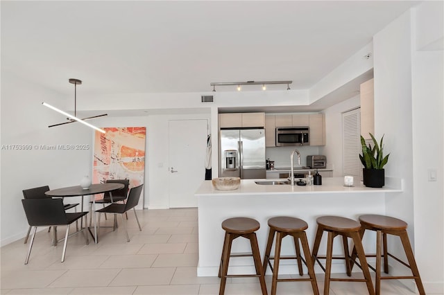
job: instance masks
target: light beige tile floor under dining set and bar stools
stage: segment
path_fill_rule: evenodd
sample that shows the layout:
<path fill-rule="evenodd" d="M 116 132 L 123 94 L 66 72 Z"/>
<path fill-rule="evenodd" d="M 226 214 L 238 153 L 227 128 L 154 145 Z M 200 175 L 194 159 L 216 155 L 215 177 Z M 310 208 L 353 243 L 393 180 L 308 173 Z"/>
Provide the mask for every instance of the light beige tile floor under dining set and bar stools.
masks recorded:
<path fill-rule="evenodd" d="M 123 228 L 102 229 L 99 244 L 83 234 L 51 247 L 51 233 L 37 233 L 28 265 L 28 244 L 19 240 L 0 248 L 1 294 L 218 294 L 219 278 L 196 276 L 196 208 L 137 211 L 142 231 L 128 213 L 130 242 Z M 103 220 L 103 218 L 102 218 Z M 120 220 L 120 219 L 118 219 Z M 108 223 L 110 217 L 108 216 Z M 59 235 L 65 230 L 59 229 Z M 266 276 L 268 292 L 271 276 Z M 318 276 L 323 293 L 323 276 Z M 366 294 L 364 283 L 332 282 L 330 294 Z M 261 294 L 257 278 L 228 278 L 225 294 Z M 278 294 L 312 294 L 308 282 L 278 284 Z M 382 294 L 415 294 L 397 280 L 382 282 Z"/>

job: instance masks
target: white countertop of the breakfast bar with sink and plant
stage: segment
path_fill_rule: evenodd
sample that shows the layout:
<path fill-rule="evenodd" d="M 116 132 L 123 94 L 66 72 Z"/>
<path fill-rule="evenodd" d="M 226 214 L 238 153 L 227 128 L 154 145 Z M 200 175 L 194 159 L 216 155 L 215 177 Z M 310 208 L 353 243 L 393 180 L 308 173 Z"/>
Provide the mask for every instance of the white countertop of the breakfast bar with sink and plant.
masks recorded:
<path fill-rule="evenodd" d="M 386 177 L 382 188 L 368 188 L 357 183 L 352 187 L 343 186 L 343 177 L 324 177 L 321 186 L 259 185 L 255 181 L 282 181 L 282 179 L 241 179 L 236 190 L 216 190 L 212 181 L 204 181 L 195 195 L 289 195 L 307 193 L 396 193 L 402 191 L 402 180 Z"/>

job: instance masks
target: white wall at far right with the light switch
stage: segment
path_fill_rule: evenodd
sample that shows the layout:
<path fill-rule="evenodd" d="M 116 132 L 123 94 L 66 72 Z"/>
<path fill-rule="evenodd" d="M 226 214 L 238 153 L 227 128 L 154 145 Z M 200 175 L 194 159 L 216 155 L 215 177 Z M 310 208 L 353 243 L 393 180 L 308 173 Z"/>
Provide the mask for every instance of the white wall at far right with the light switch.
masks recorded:
<path fill-rule="evenodd" d="M 436 40 L 443 40 L 443 10 L 442 1 L 419 6 L 413 10 L 412 26 L 417 40 L 412 53 L 415 255 L 426 291 L 436 294 L 444 293 L 444 46 L 436 51 L 425 49 L 435 49 Z M 441 18 L 436 16 L 440 12 Z M 428 180 L 429 169 L 436 171 L 436 181 Z"/>

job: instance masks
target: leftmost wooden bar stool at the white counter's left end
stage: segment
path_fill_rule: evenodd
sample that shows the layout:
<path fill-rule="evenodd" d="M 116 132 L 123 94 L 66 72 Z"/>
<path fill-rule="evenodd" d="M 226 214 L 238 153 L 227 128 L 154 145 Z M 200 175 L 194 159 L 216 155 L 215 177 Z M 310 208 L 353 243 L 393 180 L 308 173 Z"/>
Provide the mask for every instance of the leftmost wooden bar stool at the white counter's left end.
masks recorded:
<path fill-rule="evenodd" d="M 259 253 L 259 246 L 257 244 L 256 233 L 260 227 L 257 220 L 247 217 L 234 217 L 222 222 L 222 229 L 225 230 L 225 239 L 223 240 L 223 249 L 221 256 L 221 264 L 219 265 L 219 278 L 221 278 L 221 287 L 219 288 L 219 295 L 225 292 L 225 282 L 227 278 L 239 277 L 257 277 L 261 284 L 262 294 L 266 295 L 266 285 L 264 272 L 262 271 L 261 256 Z M 252 253 L 250 254 L 231 254 L 232 241 L 236 238 L 244 237 L 250 240 Z M 255 262 L 256 274 L 228 274 L 228 264 L 230 257 L 246 257 L 253 256 Z"/>

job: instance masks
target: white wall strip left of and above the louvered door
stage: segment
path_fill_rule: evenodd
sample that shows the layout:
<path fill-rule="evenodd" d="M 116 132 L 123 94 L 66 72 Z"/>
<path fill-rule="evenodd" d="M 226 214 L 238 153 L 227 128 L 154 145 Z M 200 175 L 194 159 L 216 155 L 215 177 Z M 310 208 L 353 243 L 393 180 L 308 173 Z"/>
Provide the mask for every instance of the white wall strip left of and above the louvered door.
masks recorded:
<path fill-rule="evenodd" d="M 342 113 L 356 109 L 360 103 L 358 95 L 323 111 L 325 115 L 325 146 L 320 147 L 319 153 L 327 157 L 328 166 L 333 169 L 333 177 L 343 177 Z"/>

